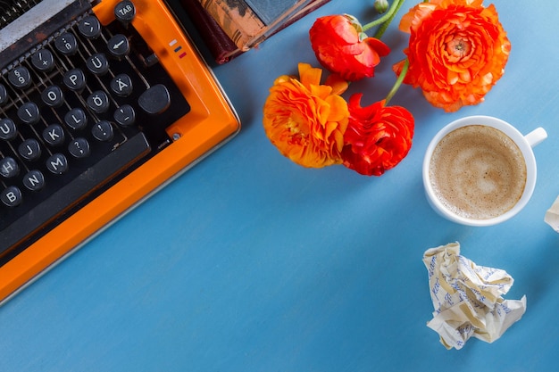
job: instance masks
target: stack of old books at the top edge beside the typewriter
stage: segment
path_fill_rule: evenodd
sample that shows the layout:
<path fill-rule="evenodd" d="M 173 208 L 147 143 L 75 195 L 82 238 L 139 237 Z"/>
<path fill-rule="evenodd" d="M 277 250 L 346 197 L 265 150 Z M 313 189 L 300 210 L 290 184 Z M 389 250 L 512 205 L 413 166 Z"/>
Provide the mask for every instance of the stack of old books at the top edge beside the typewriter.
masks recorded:
<path fill-rule="evenodd" d="M 330 0 L 180 0 L 217 63 L 229 62 Z"/>

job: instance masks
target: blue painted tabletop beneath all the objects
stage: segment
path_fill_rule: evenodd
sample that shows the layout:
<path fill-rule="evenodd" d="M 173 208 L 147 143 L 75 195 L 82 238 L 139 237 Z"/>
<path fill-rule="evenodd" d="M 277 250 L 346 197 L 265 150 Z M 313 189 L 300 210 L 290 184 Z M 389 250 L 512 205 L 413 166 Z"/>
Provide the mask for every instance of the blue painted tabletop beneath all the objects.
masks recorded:
<path fill-rule="evenodd" d="M 0 308 L 2 371 L 478 371 L 556 369 L 559 234 L 543 219 L 559 195 L 559 49 L 555 3 L 495 0 L 512 41 L 505 77 L 475 107 L 452 114 L 403 87 L 394 104 L 416 119 L 408 157 L 381 178 L 342 166 L 303 169 L 262 128 L 268 87 L 315 59 L 314 17 L 371 16 L 333 0 L 215 73 L 242 132 Z M 372 2 L 371 2 L 372 3 Z M 403 11 L 415 4 L 407 1 Z M 386 95 L 405 35 L 377 76 L 355 83 Z M 515 218 L 463 227 L 430 210 L 421 161 L 447 122 L 483 114 L 523 133 L 543 126 L 538 185 Z M 431 318 L 423 252 L 458 241 L 479 265 L 514 279 L 505 298 L 527 311 L 495 343 L 446 351 Z"/>

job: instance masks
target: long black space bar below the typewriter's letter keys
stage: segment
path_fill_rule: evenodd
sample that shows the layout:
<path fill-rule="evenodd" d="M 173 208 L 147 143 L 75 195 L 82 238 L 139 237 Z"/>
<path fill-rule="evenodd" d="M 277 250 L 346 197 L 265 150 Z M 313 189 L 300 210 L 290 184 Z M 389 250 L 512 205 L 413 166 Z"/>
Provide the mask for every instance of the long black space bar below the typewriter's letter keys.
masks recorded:
<path fill-rule="evenodd" d="M 49 196 L 43 203 L 29 211 L 5 228 L 0 233 L 0 254 L 11 250 L 15 245 L 21 244 L 29 236 L 36 233 L 46 223 L 59 217 L 64 211 L 91 194 L 96 188 L 127 169 L 151 150 L 146 136 L 138 133 L 128 141 L 109 153 L 102 160 L 81 173 L 70 183 L 61 187 Z"/>

